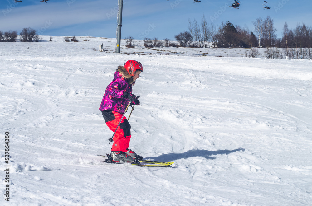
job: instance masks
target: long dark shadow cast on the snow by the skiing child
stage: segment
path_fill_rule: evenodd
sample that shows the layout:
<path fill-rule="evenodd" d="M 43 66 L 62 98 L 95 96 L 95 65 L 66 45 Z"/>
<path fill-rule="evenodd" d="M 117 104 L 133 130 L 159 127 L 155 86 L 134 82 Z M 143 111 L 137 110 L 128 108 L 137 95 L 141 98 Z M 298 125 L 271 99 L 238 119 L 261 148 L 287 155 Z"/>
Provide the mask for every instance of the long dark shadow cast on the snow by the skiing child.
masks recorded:
<path fill-rule="evenodd" d="M 243 148 L 238 148 L 234 150 L 218 150 L 218 151 L 208 151 L 208 150 L 189 150 L 183 153 L 169 153 L 169 154 L 162 154 L 158 157 L 146 157 L 144 159 L 153 159 L 155 161 L 163 161 L 163 162 L 172 162 L 178 159 L 187 159 L 189 157 L 205 157 L 206 159 L 216 159 L 216 157 L 211 157 L 212 155 L 219 155 L 219 154 L 229 154 L 232 152 L 237 151 L 245 151 Z"/>

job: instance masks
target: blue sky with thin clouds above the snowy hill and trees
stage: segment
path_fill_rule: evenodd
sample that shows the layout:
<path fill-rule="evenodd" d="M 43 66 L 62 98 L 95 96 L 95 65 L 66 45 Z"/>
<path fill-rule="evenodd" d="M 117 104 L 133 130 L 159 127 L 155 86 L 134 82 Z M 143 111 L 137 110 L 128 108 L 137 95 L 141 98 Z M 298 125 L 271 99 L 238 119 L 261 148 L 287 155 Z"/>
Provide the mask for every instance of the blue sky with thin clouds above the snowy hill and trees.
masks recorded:
<path fill-rule="evenodd" d="M 256 18 L 270 16 L 274 20 L 277 36 L 282 36 L 283 25 L 290 29 L 298 23 L 312 26 L 312 1 L 267 0 L 270 10 L 264 9 L 262 0 L 241 0 L 239 9 L 231 9 L 232 0 L 124 0 L 121 37 L 134 39 L 168 38 L 188 31 L 188 19 L 219 26 L 231 21 L 233 25 L 248 27 Z M 31 27 L 39 35 L 116 37 L 118 0 L 0 0 L 0 31 Z"/>

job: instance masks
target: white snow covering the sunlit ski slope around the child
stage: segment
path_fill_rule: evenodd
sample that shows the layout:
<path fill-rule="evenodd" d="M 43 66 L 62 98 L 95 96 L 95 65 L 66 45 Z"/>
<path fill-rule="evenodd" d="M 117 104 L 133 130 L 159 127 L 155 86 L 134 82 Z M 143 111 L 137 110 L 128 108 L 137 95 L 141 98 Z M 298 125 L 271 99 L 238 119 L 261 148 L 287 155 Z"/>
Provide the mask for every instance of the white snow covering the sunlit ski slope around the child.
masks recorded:
<path fill-rule="evenodd" d="M 116 54 L 115 39 L 42 37 L 0 43 L 1 205 L 312 205 L 311 60 L 139 40 Z M 110 152 L 98 108 L 129 59 L 144 66 L 130 148 L 170 167 L 94 155 Z"/>

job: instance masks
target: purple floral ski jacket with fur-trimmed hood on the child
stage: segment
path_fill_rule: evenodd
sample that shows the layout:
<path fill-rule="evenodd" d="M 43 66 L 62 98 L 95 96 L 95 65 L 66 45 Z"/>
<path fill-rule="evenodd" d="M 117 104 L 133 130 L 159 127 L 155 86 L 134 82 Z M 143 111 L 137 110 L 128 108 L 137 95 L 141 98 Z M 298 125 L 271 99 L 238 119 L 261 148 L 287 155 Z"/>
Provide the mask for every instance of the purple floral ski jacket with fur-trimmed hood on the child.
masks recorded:
<path fill-rule="evenodd" d="M 122 77 L 120 69 L 114 74 L 114 80 L 106 87 L 99 110 L 112 110 L 123 114 L 129 100 L 123 97 L 124 92 L 132 93 L 132 85 L 126 78 Z M 123 71 L 121 71 L 123 72 Z"/>

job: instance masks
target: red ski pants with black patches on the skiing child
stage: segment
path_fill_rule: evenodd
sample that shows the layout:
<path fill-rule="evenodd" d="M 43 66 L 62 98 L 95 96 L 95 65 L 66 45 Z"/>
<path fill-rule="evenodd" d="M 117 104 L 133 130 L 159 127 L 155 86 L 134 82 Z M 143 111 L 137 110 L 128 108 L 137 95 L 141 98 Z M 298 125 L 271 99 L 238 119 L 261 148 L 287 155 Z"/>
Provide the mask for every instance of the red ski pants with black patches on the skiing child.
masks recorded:
<path fill-rule="evenodd" d="M 106 125 L 115 132 L 117 125 L 122 117 L 122 114 L 111 110 L 102 111 L 102 115 L 105 119 Z M 131 133 L 131 125 L 127 118 L 124 116 L 119 124 L 119 127 L 113 137 L 114 143 L 112 146 L 112 152 L 126 152 L 129 147 Z"/>

